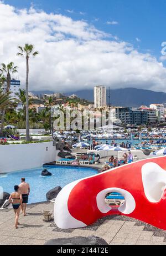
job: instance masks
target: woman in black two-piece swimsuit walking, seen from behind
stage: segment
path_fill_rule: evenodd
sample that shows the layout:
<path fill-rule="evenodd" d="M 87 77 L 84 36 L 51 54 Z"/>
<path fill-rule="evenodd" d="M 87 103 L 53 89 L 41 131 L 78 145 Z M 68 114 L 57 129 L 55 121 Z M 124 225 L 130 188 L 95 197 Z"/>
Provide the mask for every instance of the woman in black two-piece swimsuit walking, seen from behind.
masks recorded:
<path fill-rule="evenodd" d="M 18 189 L 19 189 L 18 185 L 15 185 L 14 186 L 15 192 L 13 192 L 9 197 L 9 202 L 12 203 L 13 210 L 15 213 L 15 225 L 14 225 L 15 228 L 17 228 L 17 225 L 19 225 L 18 218 L 19 218 L 19 213 L 21 209 L 20 206 L 22 205 L 22 201 L 23 201 L 22 194 L 18 192 Z"/>

